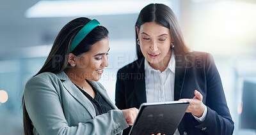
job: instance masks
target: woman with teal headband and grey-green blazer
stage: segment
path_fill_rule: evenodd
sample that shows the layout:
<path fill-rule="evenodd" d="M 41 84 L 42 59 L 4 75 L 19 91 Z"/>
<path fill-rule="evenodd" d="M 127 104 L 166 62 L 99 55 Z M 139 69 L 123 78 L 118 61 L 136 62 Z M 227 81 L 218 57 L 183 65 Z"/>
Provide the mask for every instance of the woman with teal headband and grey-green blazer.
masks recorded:
<path fill-rule="evenodd" d="M 108 67 L 108 30 L 76 18 L 54 41 L 22 98 L 24 134 L 122 134 L 138 110 L 118 110 L 97 82 Z"/>

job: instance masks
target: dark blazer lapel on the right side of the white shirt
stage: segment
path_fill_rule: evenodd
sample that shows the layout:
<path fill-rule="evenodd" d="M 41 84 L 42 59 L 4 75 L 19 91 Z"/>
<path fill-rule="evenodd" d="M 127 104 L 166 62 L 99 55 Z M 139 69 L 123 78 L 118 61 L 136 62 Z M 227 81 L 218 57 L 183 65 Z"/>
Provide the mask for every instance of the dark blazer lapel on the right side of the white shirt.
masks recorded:
<path fill-rule="evenodd" d="M 184 78 L 186 74 L 186 55 L 175 55 L 175 83 L 174 83 L 174 100 L 180 99 Z"/>

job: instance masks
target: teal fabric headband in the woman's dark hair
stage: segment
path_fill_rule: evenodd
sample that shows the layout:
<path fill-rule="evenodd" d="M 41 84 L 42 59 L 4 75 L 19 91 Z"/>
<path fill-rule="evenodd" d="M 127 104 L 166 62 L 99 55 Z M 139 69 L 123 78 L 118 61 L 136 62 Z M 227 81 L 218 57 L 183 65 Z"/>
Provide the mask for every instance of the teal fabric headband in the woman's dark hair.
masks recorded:
<path fill-rule="evenodd" d="M 91 20 L 76 34 L 75 38 L 72 40 L 70 45 L 70 52 L 72 52 L 76 46 L 85 38 L 85 36 L 90 33 L 95 27 L 100 25 L 98 20 Z"/>

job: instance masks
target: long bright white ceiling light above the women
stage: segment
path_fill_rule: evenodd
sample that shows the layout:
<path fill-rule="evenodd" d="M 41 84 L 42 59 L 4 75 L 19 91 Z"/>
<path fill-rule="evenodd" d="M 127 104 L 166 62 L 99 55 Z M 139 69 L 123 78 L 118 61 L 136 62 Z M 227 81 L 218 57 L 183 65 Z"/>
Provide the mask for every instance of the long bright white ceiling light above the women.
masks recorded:
<path fill-rule="evenodd" d="M 122 15 L 139 13 L 150 3 L 171 6 L 171 1 L 39 1 L 26 10 L 28 18 Z"/>

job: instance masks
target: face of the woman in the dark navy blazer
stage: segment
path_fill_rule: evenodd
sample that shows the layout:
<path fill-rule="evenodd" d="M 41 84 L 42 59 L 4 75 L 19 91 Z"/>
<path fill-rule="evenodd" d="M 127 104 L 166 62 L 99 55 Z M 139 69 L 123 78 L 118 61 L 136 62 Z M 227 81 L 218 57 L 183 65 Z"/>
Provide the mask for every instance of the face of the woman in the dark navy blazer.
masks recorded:
<path fill-rule="evenodd" d="M 150 65 L 168 64 L 172 54 L 170 29 L 156 22 L 146 22 L 140 26 L 140 31 L 137 27 L 136 30 L 141 52 Z"/>

